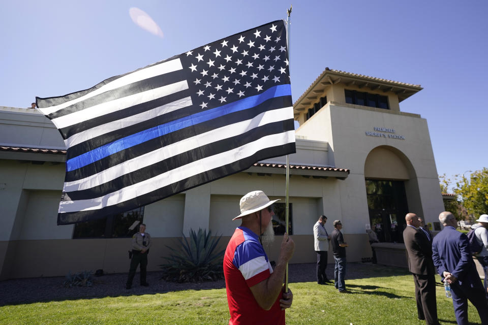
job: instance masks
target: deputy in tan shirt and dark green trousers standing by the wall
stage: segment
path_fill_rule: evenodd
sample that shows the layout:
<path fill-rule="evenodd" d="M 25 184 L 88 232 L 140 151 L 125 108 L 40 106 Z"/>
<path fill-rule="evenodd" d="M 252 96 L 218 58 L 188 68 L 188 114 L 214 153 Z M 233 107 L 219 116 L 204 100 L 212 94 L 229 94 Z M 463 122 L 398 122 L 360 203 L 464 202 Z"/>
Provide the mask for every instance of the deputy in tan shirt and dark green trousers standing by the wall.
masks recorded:
<path fill-rule="evenodd" d="M 127 279 L 126 288 L 132 287 L 132 280 L 136 274 L 137 266 L 141 265 L 141 285 L 148 286 L 146 282 L 146 267 L 147 267 L 147 254 L 149 253 L 149 247 L 151 247 L 151 236 L 145 232 L 146 225 L 141 223 L 139 225 L 139 232 L 132 236 L 132 259 L 131 269 L 129 270 L 129 278 Z"/>

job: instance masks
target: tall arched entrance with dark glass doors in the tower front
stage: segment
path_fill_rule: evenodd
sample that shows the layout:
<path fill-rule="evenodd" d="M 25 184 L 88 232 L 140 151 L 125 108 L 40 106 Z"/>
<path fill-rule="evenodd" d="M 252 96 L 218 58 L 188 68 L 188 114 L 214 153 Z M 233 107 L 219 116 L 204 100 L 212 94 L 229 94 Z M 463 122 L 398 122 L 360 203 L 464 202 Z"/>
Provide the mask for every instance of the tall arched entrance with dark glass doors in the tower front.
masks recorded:
<path fill-rule="evenodd" d="M 405 214 L 409 212 L 406 183 L 414 178 L 412 164 L 400 150 L 380 146 L 368 154 L 364 163 L 368 210 L 380 242 L 403 242 Z"/>

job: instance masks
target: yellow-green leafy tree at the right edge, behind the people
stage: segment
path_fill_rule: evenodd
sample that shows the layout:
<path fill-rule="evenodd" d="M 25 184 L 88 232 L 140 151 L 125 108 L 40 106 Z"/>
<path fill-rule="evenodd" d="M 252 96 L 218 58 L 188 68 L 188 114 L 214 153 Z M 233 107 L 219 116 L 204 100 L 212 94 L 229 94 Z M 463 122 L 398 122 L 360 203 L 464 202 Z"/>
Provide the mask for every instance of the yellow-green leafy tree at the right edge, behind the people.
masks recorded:
<path fill-rule="evenodd" d="M 488 213 L 488 168 L 471 173 L 469 179 L 462 175 L 456 182 L 455 193 L 461 196 L 470 214 L 477 217 Z"/>

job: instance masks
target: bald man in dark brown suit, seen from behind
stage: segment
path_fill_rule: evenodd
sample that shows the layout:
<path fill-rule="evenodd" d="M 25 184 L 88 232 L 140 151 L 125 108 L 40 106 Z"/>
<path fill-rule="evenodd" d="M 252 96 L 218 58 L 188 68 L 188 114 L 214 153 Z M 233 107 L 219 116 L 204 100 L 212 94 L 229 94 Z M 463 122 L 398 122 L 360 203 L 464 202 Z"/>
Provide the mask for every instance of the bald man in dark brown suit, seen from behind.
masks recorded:
<path fill-rule="evenodd" d="M 407 228 L 403 231 L 403 240 L 408 252 L 408 270 L 415 283 L 418 319 L 425 319 L 428 325 L 438 325 L 432 247 L 425 234 L 417 229 L 419 222 L 415 213 L 407 213 L 405 221 Z"/>

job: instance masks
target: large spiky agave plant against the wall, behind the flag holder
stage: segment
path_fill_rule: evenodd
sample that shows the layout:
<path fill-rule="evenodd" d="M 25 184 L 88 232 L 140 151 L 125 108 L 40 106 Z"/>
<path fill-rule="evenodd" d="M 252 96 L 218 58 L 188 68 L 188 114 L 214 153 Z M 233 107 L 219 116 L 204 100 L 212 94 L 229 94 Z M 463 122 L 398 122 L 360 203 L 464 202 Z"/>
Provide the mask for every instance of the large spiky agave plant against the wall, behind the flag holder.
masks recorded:
<path fill-rule="evenodd" d="M 216 251 L 219 237 L 212 237 L 211 231 L 190 229 L 190 236 L 178 239 L 178 247 L 171 249 L 168 263 L 160 265 L 164 271 L 163 279 L 173 282 L 215 281 L 224 277 L 222 259 L 225 250 Z"/>

